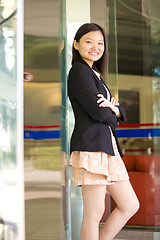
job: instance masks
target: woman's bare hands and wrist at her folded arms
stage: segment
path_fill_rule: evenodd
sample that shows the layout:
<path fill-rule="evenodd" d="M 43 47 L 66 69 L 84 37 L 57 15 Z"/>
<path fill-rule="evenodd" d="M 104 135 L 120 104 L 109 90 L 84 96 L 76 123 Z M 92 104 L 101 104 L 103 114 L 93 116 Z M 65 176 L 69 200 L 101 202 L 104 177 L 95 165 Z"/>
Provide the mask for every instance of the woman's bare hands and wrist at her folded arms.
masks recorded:
<path fill-rule="evenodd" d="M 98 94 L 97 96 L 100 97 L 97 101 L 97 103 L 100 103 L 99 107 L 109 107 L 116 114 L 117 117 L 121 116 L 120 111 L 117 107 L 119 106 L 119 102 L 117 99 L 112 97 L 110 102 L 103 96 L 103 94 Z"/>

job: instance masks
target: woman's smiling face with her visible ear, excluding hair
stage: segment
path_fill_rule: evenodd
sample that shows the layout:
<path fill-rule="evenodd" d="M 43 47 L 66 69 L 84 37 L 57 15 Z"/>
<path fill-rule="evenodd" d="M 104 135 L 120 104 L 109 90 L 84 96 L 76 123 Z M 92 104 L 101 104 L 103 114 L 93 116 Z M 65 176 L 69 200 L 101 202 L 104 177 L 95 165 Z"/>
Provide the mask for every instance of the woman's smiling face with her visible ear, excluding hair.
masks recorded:
<path fill-rule="evenodd" d="M 79 51 L 82 59 L 92 68 L 104 53 L 104 37 L 101 31 L 92 31 L 83 35 L 79 42 L 74 40 L 74 48 Z"/>

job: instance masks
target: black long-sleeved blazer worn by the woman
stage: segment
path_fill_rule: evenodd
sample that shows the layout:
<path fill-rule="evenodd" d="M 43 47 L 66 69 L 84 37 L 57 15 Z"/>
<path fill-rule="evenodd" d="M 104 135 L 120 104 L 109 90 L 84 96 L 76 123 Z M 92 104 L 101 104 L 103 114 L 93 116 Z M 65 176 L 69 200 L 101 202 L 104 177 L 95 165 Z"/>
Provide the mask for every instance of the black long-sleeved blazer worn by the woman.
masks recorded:
<path fill-rule="evenodd" d="M 125 110 L 122 106 L 118 107 L 122 116 L 119 119 L 109 107 L 99 107 L 97 94 L 107 97 L 103 84 L 87 63 L 76 62 L 69 71 L 68 95 L 75 116 L 70 152 L 105 152 L 114 156 L 110 126 L 119 153 L 123 156 L 115 129 L 119 121 L 124 121 Z"/>

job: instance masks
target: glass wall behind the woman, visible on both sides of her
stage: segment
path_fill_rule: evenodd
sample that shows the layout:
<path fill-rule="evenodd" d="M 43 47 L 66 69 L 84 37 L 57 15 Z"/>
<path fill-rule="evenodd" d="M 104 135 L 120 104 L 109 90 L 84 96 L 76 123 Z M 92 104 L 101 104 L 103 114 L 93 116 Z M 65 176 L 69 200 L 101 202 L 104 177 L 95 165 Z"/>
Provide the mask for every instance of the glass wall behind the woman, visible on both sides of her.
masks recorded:
<path fill-rule="evenodd" d="M 160 3 L 154 1 L 66 1 L 67 69 L 71 66 L 73 36 L 80 25 L 96 22 L 109 40 L 109 67 L 105 76 L 112 95 L 119 98 L 127 111 L 127 121 L 119 125 L 117 135 L 131 183 L 140 200 L 140 210 L 126 224 L 117 239 L 158 239 L 160 225 Z M 74 117 L 68 103 L 69 139 Z M 68 139 L 68 140 L 69 140 Z M 69 158 L 69 156 L 68 156 Z M 72 237 L 79 239 L 82 199 L 71 179 Z M 102 223 L 115 207 L 106 195 Z M 131 237 L 129 229 L 136 229 Z M 140 235 L 136 231 L 141 230 Z M 151 230 L 149 233 L 143 230 Z M 139 236 L 139 238 L 138 238 Z M 157 238 L 158 237 L 158 238 Z"/>

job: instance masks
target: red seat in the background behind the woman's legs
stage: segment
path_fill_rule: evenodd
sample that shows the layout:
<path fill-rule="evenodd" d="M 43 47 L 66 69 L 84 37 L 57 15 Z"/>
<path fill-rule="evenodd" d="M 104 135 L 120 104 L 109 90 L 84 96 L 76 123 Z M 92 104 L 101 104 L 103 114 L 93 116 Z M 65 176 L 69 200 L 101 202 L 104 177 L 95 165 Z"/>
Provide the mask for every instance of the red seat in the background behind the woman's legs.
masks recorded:
<path fill-rule="evenodd" d="M 160 156 L 159 155 L 124 155 L 131 184 L 140 201 L 139 211 L 127 225 L 160 225 Z M 108 209 L 109 200 L 106 202 Z M 111 211 L 116 207 L 111 198 Z M 105 222 L 108 215 L 103 215 Z"/>

